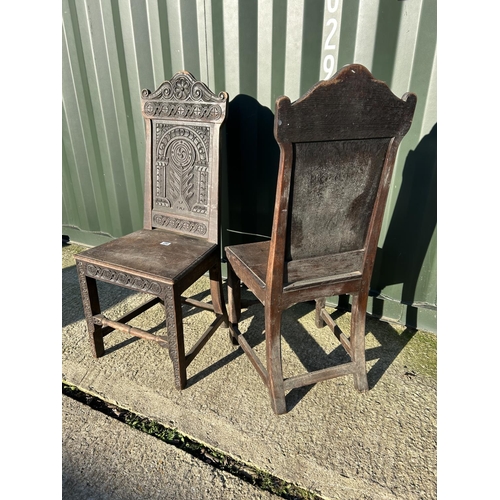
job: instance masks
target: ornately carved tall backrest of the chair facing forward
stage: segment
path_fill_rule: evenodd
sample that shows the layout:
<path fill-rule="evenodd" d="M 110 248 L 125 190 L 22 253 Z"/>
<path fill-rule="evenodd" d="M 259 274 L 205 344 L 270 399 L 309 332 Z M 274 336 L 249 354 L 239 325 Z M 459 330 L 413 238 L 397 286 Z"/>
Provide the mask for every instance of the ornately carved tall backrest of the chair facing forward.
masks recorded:
<path fill-rule="evenodd" d="M 219 134 L 227 93 L 187 71 L 142 91 L 146 121 L 144 227 L 218 241 Z"/>

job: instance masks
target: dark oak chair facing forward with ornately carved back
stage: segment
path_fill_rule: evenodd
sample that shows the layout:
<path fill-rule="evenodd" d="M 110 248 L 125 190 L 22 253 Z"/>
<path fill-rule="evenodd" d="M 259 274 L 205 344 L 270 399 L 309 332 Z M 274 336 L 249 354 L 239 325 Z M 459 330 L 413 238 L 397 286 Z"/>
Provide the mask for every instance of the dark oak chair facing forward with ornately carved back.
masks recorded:
<path fill-rule="evenodd" d="M 146 122 L 144 227 L 75 256 L 88 332 L 95 357 L 104 354 L 103 337 L 113 330 L 167 347 L 175 386 L 186 386 L 186 368 L 227 313 L 221 289 L 219 240 L 219 134 L 228 95 L 218 96 L 181 71 L 151 93 L 142 91 Z M 208 271 L 212 304 L 182 293 Z M 101 313 L 96 280 L 153 296 L 112 320 Z M 163 303 L 167 335 L 154 335 L 127 323 Z M 186 354 L 182 304 L 216 315 Z"/>

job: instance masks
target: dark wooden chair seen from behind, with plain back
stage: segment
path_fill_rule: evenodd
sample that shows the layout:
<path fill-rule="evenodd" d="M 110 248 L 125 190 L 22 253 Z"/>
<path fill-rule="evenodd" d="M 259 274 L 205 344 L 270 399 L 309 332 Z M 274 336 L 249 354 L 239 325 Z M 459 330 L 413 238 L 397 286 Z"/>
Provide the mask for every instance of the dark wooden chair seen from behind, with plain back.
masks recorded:
<path fill-rule="evenodd" d="M 276 101 L 280 165 L 271 240 L 226 247 L 230 331 L 269 390 L 275 413 L 286 392 L 341 375 L 368 390 L 365 315 L 370 278 L 398 146 L 416 96 L 396 97 L 358 64 L 342 68 L 290 103 Z M 241 281 L 265 307 L 266 364 L 238 330 Z M 325 309 L 327 297 L 352 296 L 350 336 Z M 281 318 L 316 301 L 351 361 L 283 379 Z"/>

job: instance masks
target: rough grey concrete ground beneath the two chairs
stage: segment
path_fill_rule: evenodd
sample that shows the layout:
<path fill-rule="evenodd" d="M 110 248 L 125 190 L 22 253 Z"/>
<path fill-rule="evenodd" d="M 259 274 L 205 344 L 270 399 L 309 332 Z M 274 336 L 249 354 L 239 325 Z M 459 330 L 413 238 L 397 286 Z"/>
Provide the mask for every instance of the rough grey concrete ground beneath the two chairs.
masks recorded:
<path fill-rule="evenodd" d="M 324 498 L 437 498 L 434 334 L 368 319 L 370 391 L 358 393 L 350 376 L 332 379 L 292 391 L 287 396 L 289 412 L 276 416 L 259 375 L 241 349 L 231 345 L 227 330 L 219 329 L 189 366 L 188 387 L 183 391 L 174 388 L 168 352 L 156 343 L 114 332 L 105 338 L 106 354 L 94 359 L 73 259 L 82 249 L 78 245 L 63 247 L 63 381 L 175 427 L 197 441 Z M 202 278 L 190 293 L 208 300 L 207 282 Z M 143 301 L 140 294 L 104 283 L 99 283 L 99 291 L 105 314 L 110 318 Z M 213 315 L 194 313 L 188 307 L 185 313 L 189 346 Z M 338 321 L 348 330 L 348 313 Z M 165 334 L 161 305 L 131 324 Z M 240 330 L 248 332 L 245 336 L 260 353 L 264 352 L 263 324 L 260 305 L 243 311 Z M 286 376 L 307 368 L 326 367 L 346 356 L 328 328 L 315 327 L 313 306 L 308 303 L 296 305 L 284 315 L 283 340 Z M 228 481 L 237 484 L 234 478 L 215 478 L 209 469 L 204 475 L 199 472 L 199 465 L 190 460 L 185 460 L 187 469 L 178 475 L 184 478 L 184 483 L 190 478 L 201 478 L 203 482 L 204 477 L 205 485 L 200 483 L 197 491 L 206 491 L 206 496 L 202 493 L 192 496 L 192 491 L 189 493 L 180 484 L 169 485 L 165 481 L 161 481 L 165 491 L 175 491 L 174 496 L 166 496 L 167 493 L 137 496 L 134 493 L 140 491 L 137 488 L 158 484 L 158 478 L 169 470 L 169 461 L 172 467 L 174 462 L 182 461 L 179 450 L 169 451 L 168 445 L 157 449 L 150 436 L 132 433 L 133 429 L 125 432 L 120 427 L 123 424 L 111 425 L 106 417 L 79 409 L 75 402 L 65 401 L 63 408 L 64 498 L 272 497 L 267 493 L 268 496 L 258 496 L 263 492 L 254 489 L 238 490 L 250 485 L 231 486 Z M 77 432 L 69 432 L 71 429 Z M 89 435 L 95 438 L 88 439 Z M 141 442 L 143 448 L 138 444 Z M 111 465 L 103 455 L 109 450 L 113 450 Z M 157 458 L 161 456 L 165 466 L 148 466 L 141 459 L 149 456 L 144 455 L 148 450 Z M 106 466 L 114 471 L 111 478 L 105 470 L 96 472 Z M 134 475 L 136 470 L 141 474 Z M 117 471 L 130 471 L 125 475 L 127 480 Z M 106 491 L 96 490 L 90 477 L 106 477 Z M 90 496 L 89 491 L 85 496 L 86 487 L 92 489 Z M 83 493 L 78 496 L 77 491 Z M 112 496 L 110 492 L 118 493 Z"/>

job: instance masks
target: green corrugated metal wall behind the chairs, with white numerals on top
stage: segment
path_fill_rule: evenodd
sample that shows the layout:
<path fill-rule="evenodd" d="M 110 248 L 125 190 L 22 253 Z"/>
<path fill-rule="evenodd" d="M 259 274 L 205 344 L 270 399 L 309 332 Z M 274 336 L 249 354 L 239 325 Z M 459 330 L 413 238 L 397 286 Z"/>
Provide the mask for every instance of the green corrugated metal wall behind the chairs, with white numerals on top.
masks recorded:
<path fill-rule="evenodd" d="M 269 237 L 274 102 L 345 64 L 418 104 L 398 154 L 370 311 L 436 331 L 436 0 L 63 0 L 62 234 L 142 226 L 140 91 L 186 69 L 230 96 L 224 243 Z M 230 207 L 230 210 L 227 209 Z"/>

